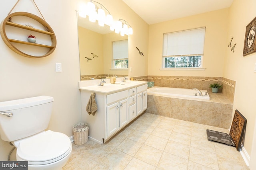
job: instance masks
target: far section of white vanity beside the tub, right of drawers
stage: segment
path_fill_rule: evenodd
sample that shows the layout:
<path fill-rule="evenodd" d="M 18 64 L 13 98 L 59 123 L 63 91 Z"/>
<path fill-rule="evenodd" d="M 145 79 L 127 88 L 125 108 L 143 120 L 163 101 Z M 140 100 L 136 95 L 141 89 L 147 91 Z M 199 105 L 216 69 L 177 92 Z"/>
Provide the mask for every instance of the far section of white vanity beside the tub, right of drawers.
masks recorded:
<path fill-rule="evenodd" d="M 136 115 L 140 115 L 144 110 L 147 109 L 148 94 L 147 94 L 148 85 L 144 84 L 137 87 L 137 112 Z"/>

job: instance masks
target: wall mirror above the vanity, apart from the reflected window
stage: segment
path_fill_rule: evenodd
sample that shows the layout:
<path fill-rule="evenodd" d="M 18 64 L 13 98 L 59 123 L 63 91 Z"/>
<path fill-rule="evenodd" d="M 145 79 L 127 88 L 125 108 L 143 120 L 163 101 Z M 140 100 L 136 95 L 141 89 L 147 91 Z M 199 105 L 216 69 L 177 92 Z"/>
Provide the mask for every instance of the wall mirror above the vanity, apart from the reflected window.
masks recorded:
<path fill-rule="evenodd" d="M 77 17 L 81 81 L 128 76 L 128 68 L 113 68 L 112 50 L 113 42 L 128 40 L 128 35 L 121 36 L 111 31 L 108 25 L 102 27 L 97 21 L 90 22 L 88 17 Z"/>

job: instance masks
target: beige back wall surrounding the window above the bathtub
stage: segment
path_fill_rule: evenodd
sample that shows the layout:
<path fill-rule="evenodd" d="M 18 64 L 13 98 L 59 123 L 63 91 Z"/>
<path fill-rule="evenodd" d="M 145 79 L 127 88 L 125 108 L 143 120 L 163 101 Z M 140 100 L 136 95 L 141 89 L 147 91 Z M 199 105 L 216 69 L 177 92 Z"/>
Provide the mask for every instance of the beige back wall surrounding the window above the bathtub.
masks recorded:
<path fill-rule="evenodd" d="M 148 75 L 161 76 L 217 76 L 221 77 L 226 55 L 228 8 L 149 26 Z M 163 34 L 206 27 L 204 42 L 204 71 L 164 70 L 162 67 Z"/>

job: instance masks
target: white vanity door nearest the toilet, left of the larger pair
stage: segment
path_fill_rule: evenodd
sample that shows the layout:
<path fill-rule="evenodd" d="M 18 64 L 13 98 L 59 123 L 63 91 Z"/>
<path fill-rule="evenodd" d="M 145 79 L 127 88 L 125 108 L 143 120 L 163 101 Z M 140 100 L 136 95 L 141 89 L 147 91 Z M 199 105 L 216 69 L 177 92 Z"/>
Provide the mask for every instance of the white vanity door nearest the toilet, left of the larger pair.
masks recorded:
<path fill-rule="evenodd" d="M 107 106 L 107 136 L 119 129 L 119 103 Z"/>

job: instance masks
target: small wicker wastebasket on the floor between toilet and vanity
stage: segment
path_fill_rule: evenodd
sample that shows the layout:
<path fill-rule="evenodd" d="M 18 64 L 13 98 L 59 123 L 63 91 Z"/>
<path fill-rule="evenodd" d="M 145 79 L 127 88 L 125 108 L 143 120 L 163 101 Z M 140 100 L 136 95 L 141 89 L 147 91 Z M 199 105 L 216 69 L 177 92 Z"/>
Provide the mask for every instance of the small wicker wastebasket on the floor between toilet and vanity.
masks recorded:
<path fill-rule="evenodd" d="M 89 125 L 85 122 L 79 122 L 74 124 L 74 143 L 76 145 L 84 145 L 88 141 Z"/>

